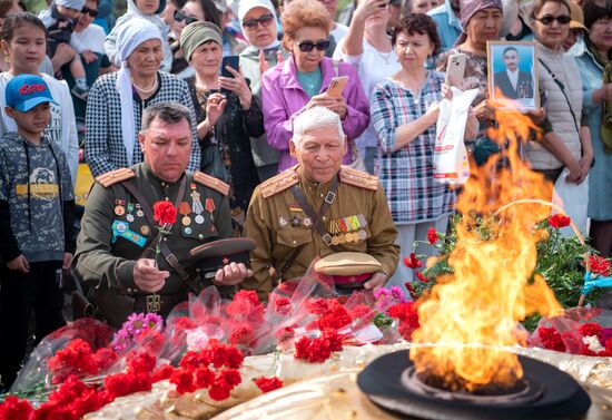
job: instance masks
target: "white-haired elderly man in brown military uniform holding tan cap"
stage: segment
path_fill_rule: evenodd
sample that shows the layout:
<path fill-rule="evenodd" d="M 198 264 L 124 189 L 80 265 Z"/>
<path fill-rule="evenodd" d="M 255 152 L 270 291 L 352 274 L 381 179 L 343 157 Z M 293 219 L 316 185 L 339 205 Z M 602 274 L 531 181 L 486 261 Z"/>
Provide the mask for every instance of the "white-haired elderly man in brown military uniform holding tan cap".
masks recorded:
<path fill-rule="evenodd" d="M 364 286 L 384 285 L 398 261 L 397 231 L 378 177 L 340 166 L 346 136 L 338 115 L 324 107 L 300 114 L 289 152 L 298 165 L 260 184 L 250 201 L 245 233 L 257 248 L 241 287 L 267 299 L 278 281 L 335 252 L 374 256 L 382 270 Z"/>

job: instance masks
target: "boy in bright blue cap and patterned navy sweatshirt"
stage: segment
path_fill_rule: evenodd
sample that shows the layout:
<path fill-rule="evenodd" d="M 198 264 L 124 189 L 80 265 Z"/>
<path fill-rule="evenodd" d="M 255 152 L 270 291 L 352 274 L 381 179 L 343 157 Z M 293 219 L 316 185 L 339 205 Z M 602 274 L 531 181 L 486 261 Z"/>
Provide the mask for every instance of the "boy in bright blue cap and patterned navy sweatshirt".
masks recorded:
<path fill-rule="evenodd" d="M 30 314 L 40 341 L 66 324 L 59 287 L 75 252 L 75 197 L 66 156 L 45 134 L 53 98 L 39 76 L 16 76 L 0 139 L 0 380 L 10 387 L 26 353 Z"/>

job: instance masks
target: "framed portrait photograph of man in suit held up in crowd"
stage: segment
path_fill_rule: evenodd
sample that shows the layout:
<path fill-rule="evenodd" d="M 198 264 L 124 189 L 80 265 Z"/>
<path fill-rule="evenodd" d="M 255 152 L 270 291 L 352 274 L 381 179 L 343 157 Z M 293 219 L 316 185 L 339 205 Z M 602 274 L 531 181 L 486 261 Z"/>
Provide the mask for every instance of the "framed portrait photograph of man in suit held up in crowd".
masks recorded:
<path fill-rule="evenodd" d="M 540 108 L 535 43 L 488 41 L 486 49 L 490 98 L 506 109 Z"/>

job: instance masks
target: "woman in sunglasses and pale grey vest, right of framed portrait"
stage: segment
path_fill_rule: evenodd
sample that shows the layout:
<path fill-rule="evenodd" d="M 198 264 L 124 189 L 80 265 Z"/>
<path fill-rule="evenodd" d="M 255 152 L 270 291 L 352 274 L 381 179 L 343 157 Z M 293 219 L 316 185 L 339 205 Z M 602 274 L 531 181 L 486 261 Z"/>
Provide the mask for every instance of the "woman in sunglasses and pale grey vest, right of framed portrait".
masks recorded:
<path fill-rule="evenodd" d="M 575 59 L 564 55 L 570 33 L 567 0 L 536 0 L 531 23 L 537 48 L 540 89 L 546 92 L 549 126 L 541 141 L 529 141 L 526 156 L 532 168 L 553 183 L 564 167 L 569 183 L 581 184 L 593 162 L 591 133 L 582 118 L 582 81 Z M 552 127 L 551 127 L 552 126 Z M 552 129 L 551 129 L 552 128 Z"/>

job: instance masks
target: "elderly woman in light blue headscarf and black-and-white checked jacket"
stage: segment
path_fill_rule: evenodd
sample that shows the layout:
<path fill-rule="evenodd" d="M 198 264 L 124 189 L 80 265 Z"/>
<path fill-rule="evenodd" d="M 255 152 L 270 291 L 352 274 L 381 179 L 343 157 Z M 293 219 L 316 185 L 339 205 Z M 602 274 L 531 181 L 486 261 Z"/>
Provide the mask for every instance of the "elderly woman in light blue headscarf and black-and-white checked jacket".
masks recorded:
<path fill-rule="evenodd" d="M 142 111 L 159 102 L 179 102 L 191 110 L 194 102 L 187 84 L 159 71 L 162 58 L 161 35 L 144 19 L 134 19 L 117 35 L 119 71 L 100 77 L 87 101 L 85 154 L 93 176 L 142 162 L 137 140 Z M 194 139 L 196 129 L 193 127 Z M 191 147 L 188 170 L 198 170 L 198 141 Z"/>

